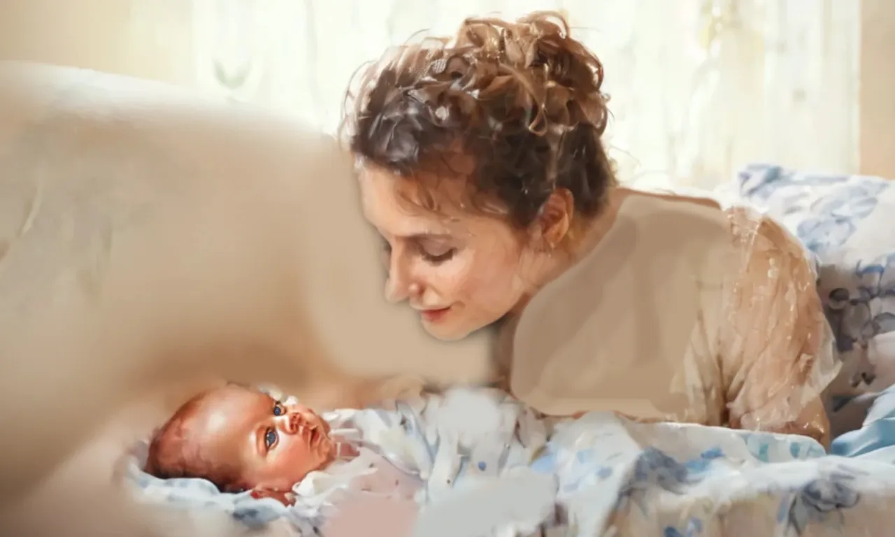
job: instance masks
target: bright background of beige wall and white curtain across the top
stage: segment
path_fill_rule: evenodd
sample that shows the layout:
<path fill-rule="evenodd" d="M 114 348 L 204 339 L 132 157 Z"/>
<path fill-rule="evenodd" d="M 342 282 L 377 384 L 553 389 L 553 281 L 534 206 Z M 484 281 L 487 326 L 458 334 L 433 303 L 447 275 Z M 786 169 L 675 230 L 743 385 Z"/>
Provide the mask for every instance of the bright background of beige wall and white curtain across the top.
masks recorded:
<path fill-rule="evenodd" d="M 563 10 L 604 60 L 625 180 L 712 186 L 754 159 L 895 177 L 888 0 L 0 0 L 0 58 L 224 91 L 332 130 L 384 47 L 533 9 Z"/>

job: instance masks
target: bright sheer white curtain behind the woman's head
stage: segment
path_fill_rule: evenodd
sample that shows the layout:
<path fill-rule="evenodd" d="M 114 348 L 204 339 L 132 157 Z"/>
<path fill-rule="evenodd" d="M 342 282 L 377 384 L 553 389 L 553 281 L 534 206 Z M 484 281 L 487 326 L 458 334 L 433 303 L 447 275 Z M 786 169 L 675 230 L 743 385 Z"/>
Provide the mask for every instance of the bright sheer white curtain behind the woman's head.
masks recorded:
<path fill-rule="evenodd" d="M 200 84 L 334 132 L 364 62 L 467 16 L 567 14 L 604 63 L 621 179 L 711 188 L 755 160 L 857 168 L 857 0 L 193 0 Z"/>

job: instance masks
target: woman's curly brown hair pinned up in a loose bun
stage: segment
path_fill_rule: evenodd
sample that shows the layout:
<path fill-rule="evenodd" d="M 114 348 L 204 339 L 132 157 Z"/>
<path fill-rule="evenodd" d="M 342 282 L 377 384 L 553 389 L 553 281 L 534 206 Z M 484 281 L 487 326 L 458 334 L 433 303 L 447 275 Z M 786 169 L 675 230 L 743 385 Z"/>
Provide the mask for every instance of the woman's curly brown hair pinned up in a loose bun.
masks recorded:
<path fill-rule="evenodd" d="M 559 13 L 537 12 L 396 47 L 355 78 L 343 141 L 362 165 L 417 183 L 422 171 L 466 176 L 476 207 L 498 200 L 521 228 L 558 189 L 593 217 L 616 183 L 601 140 L 609 97 L 600 60 L 569 33 Z M 450 173 L 456 154 L 472 174 Z"/>

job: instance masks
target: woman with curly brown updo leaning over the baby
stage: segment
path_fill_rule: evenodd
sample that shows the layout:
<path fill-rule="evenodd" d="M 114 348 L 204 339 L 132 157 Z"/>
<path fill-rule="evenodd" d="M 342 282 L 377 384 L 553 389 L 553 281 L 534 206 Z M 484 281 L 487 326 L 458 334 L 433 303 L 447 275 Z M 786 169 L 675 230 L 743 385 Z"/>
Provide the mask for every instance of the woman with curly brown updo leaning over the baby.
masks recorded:
<path fill-rule="evenodd" d="M 546 413 L 827 442 L 839 365 L 804 251 L 746 209 L 618 186 L 601 63 L 561 16 L 467 20 L 359 80 L 343 134 L 386 294 L 432 336 L 497 327 L 496 373 Z"/>

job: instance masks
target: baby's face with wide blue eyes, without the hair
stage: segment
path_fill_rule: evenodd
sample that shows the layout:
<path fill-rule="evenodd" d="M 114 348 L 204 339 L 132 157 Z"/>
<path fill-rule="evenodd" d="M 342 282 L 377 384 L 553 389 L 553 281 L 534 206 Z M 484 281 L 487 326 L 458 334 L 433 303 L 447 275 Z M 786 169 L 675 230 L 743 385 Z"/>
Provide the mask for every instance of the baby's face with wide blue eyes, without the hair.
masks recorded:
<path fill-rule="evenodd" d="M 234 465 L 243 483 L 256 489 L 290 490 L 328 465 L 336 451 L 327 422 L 311 409 L 238 386 L 209 393 L 186 428 L 201 456 Z"/>

